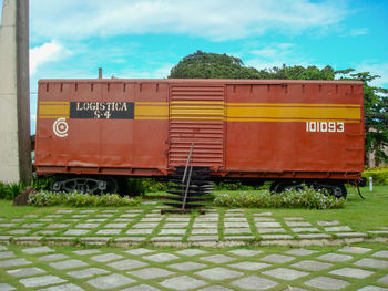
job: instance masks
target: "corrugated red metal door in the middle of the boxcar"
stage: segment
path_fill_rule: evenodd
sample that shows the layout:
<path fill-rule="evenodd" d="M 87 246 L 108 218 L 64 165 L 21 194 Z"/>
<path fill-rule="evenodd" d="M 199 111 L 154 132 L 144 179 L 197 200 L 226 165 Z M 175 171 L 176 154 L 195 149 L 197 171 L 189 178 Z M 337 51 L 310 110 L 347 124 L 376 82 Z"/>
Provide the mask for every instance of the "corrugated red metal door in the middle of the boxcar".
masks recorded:
<path fill-rule="evenodd" d="M 224 165 L 224 86 L 170 87 L 169 165 L 185 165 L 194 143 L 192 164 L 215 169 Z"/>

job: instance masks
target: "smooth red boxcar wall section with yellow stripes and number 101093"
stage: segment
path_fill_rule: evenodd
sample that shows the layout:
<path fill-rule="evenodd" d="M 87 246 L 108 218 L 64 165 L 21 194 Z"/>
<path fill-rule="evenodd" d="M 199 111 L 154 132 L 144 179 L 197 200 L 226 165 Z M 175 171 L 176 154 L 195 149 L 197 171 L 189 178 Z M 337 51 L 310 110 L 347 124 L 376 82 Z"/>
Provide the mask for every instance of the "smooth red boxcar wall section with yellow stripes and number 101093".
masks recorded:
<path fill-rule="evenodd" d="M 345 178 L 363 172 L 361 85 L 228 85 L 226 94 L 229 176 Z"/>

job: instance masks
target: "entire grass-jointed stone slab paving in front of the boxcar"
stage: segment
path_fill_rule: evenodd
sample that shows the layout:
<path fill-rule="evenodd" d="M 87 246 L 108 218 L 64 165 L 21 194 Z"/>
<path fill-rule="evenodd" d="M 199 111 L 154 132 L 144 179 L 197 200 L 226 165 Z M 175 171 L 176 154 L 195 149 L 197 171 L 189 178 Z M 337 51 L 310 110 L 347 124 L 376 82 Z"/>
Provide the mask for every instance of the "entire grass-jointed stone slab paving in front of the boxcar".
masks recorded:
<path fill-rule="evenodd" d="M 388 249 L 376 250 L 370 245 L 351 246 L 351 241 L 361 241 L 359 240 L 361 238 L 368 240 L 365 238 L 366 233 L 356 232 L 357 229 L 346 231 L 350 227 L 344 226 L 341 221 L 330 220 L 318 224 L 318 221 L 305 221 L 303 217 L 282 218 L 272 212 L 254 214 L 244 209 L 226 211 L 226 214 L 214 209 L 215 211 L 200 217 L 162 216 L 159 208 L 151 211 L 150 209 L 112 209 L 108 211 L 105 209 L 93 209 L 93 211 L 89 211 L 91 209 L 74 209 L 69 212 L 58 212 L 58 215 L 12 218 L 12 221 L 3 218 L 3 224 L 13 224 L 13 226 L 0 228 L 0 241 L 9 242 L 10 239 L 13 239 L 17 243 L 38 245 L 37 247 L 11 245 L 8 248 L 0 246 L 0 276 L 12 279 L 12 281 L 7 281 L 9 287 L 4 288 L 24 290 L 28 287 L 22 283 L 25 281 L 21 280 L 34 278 L 35 282 L 39 282 L 41 280 L 39 278 L 48 276 L 64 281 L 54 283 L 55 280 L 53 280 L 48 284 L 33 287 L 33 289 L 52 291 L 83 290 L 83 288 L 92 290 L 105 288 L 114 290 L 186 290 L 190 282 L 195 290 L 234 290 L 236 288 L 238 290 L 286 290 L 289 285 L 293 287 L 293 290 L 336 290 L 343 288 L 344 282 L 344 288 L 347 290 L 382 290 L 382 287 L 388 287 Z M 133 210 L 136 211 L 132 212 Z M 125 215 L 130 216 L 125 218 L 123 217 Z M 118 221 L 115 219 L 131 220 Z M 38 222 L 34 221 L 41 224 L 39 228 L 35 227 L 34 224 Z M 61 226 L 60 224 L 63 224 L 63 228 L 49 227 L 50 225 Z M 154 224 L 152 225 L 154 227 L 133 228 L 134 225 L 139 224 L 147 226 Z M 261 224 L 275 225 L 263 226 Z M 198 227 L 195 228 L 194 225 Z M 247 225 L 248 227 L 246 227 Z M 16 231 L 10 236 L 9 231 L 22 226 L 24 226 L 22 230 L 25 231 L 19 233 Z M 48 231 L 47 228 L 54 232 L 48 232 L 45 238 L 40 237 L 43 235 L 38 232 Z M 315 228 L 318 231 L 299 233 L 293 231 L 293 228 L 304 230 Z M 340 231 L 329 231 L 331 228 L 340 229 Z M 214 231 L 218 229 L 219 233 Z M 275 229 L 275 231 L 283 229 L 284 232 L 262 232 L 268 229 Z M 85 232 L 69 235 L 69 230 Z M 198 235 L 195 235 L 196 230 L 200 230 Z M 244 233 L 247 230 L 249 232 Z M 140 232 L 131 233 L 131 231 Z M 212 231 L 214 235 L 211 233 Z M 228 231 L 229 233 L 227 233 Z M 25 236 L 22 232 L 31 235 Z M 55 235 L 52 236 L 53 233 Z M 231 236 L 233 233 L 236 236 Z M 105 237 L 98 237 L 101 235 Z M 344 239 L 337 239 L 338 237 Z M 347 240 L 347 238 L 350 239 Z M 386 241 L 378 235 L 377 238 Z M 244 240 L 246 239 L 252 240 L 251 245 L 245 245 Z M 132 243 L 143 243 L 142 241 L 145 241 L 142 247 L 131 246 Z M 164 246 L 171 246 L 175 241 L 176 248 L 155 249 L 149 245 L 150 241 L 163 241 Z M 275 252 L 268 251 L 268 248 L 265 247 L 256 247 L 256 245 L 265 245 L 266 241 L 272 243 L 278 241 L 279 245 L 292 242 L 298 247 L 280 248 Z M 325 251 L 325 248 L 309 248 L 309 241 L 313 245 L 335 245 L 346 241 L 350 246 L 331 247 L 329 251 Z M 84 247 L 79 247 L 73 251 L 69 249 L 63 251 L 60 247 L 51 245 L 57 242 L 70 242 L 70 246 L 80 242 L 81 245 L 101 242 L 103 246 L 122 243 L 121 246 L 124 246 L 125 249 L 91 249 L 91 247 L 83 249 Z M 49 246 L 40 247 L 41 243 Z M 201 243 L 204 247 L 227 247 L 234 243 L 242 247 L 225 250 L 195 247 L 181 249 L 185 246 Z M 33 249 L 35 250 L 31 251 Z M 155 259 L 150 260 L 149 257 Z M 48 260 L 42 258 L 48 258 Z M 42 272 L 34 273 L 33 270 L 37 268 L 32 264 L 34 261 L 39 261 L 38 269 Z M 63 266 L 63 269 L 55 269 L 55 266 Z M 25 273 L 16 270 L 25 270 Z M 28 270 L 31 270 L 31 273 Z M 21 276 L 12 276 L 10 271 L 14 271 L 13 274 L 19 272 Z M 71 278 L 74 278 L 74 281 L 70 280 Z M 363 285 L 364 279 L 368 280 L 365 285 Z M 141 280 L 146 281 L 140 282 Z M 355 281 L 363 283 L 358 283 L 357 288 L 354 288 Z M 330 282 L 335 283 L 330 285 Z M 167 287 L 169 284 L 171 288 Z"/>

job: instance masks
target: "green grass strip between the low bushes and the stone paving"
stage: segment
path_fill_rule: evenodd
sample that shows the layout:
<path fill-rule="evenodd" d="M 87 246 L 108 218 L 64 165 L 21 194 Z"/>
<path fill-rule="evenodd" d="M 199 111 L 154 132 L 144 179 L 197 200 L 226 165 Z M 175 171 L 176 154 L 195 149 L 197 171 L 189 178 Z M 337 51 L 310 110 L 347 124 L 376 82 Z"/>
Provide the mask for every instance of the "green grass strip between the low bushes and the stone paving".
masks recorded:
<path fill-rule="evenodd" d="M 366 198 L 363 200 L 358 194 L 357 189 L 348 189 L 348 200 L 345 208 L 341 209 L 327 209 L 327 210 L 315 210 L 315 209 L 290 209 L 290 208 L 247 208 L 245 211 L 248 217 L 254 212 L 259 211 L 272 211 L 273 217 L 282 220 L 283 217 L 294 217 L 300 216 L 305 220 L 319 221 L 319 220 L 338 220 L 341 225 L 347 225 L 351 227 L 355 231 L 366 232 L 367 230 L 380 229 L 381 227 L 388 226 L 388 186 L 375 186 L 374 191 L 369 193 L 368 188 L 363 188 L 361 193 Z M 225 191 L 219 191 L 225 193 Z M 351 195 L 353 194 L 353 195 Z M 157 199 L 157 201 L 160 201 Z M 208 202 L 208 207 L 214 208 L 213 204 Z M 143 209 L 151 210 L 154 206 L 142 205 L 133 207 L 99 207 L 98 209 Z M 57 212 L 59 209 L 89 209 L 92 207 L 69 207 L 69 206 L 53 206 L 53 207 L 33 207 L 33 206 L 22 206 L 14 207 L 12 201 L 0 200 L 0 217 L 7 218 L 8 220 L 12 218 L 21 218 L 24 215 L 50 215 Z M 226 207 L 215 207 L 218 209 L 221 219 Z M 95 208 L 94 208 L 95 209 Z M 33 219 L 31 219 L 32 221 Z M 252 221 L 251 221 L 252 222 Z M 222 230 L 222 229 L 221 229 Z"/>

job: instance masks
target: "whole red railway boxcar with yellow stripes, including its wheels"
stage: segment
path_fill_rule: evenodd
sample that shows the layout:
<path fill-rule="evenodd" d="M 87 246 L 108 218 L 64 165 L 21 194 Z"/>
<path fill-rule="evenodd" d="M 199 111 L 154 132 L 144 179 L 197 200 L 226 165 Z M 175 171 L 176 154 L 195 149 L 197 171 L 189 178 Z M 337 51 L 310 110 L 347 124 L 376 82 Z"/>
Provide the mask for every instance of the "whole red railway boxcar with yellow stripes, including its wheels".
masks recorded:
<path fill-rule="evenodd" d="M 116 190 L 191 163 L 213 179 L 345 196 L 364 168 L 361 82 L 41 80 L 38 175 L 54 190 Z"/>

